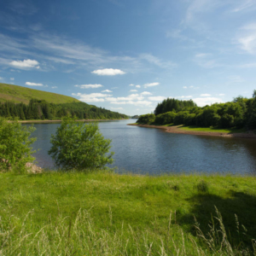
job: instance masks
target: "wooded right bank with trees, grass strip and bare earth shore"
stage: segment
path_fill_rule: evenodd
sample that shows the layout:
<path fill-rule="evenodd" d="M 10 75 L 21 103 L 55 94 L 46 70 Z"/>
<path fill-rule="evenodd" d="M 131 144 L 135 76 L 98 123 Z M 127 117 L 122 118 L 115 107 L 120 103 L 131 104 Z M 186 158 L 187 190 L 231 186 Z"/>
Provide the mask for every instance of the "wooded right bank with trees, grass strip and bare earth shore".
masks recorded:
<path fill-rule="evenodd" d="M 238 96 L 233 102 L 202 108 L 191 100 L 167 98 L 158 103 L 154 113 L 141 115 L 137 125 L 172 133 L 256 138 L 256 90 L 252 98 Z"/>

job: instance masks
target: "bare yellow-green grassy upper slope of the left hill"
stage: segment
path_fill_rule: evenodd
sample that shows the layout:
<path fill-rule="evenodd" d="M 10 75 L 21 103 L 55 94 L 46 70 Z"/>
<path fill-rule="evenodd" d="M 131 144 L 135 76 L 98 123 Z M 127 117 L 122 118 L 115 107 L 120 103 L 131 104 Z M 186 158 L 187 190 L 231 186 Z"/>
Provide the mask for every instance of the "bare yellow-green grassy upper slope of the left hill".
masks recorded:
<path fill-rule="evenodd" d="M 12 101 L 28 104 L 31 99 L 45 100 L 55 104 L 79 102 L 79 100 L 43 90 L 34 90 L 13 84 L 0 83 L 0 102 Z"/>

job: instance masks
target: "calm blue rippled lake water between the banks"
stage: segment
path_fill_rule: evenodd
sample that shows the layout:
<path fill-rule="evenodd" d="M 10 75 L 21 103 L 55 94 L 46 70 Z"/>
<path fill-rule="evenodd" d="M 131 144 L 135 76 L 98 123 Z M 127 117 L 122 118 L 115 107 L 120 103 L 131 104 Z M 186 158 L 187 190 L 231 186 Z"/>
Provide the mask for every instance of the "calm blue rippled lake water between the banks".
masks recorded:
<path fill-rule="evenodd" d="M 127 125 L 134 119 L 100 122 L 102 135 L 112 139 L 119 172 L 231 172 L 256 174 L 256 140 L 173 134 Z M 60 124 L 35 124 L 33 148 L 38 166 L 52 168 L 49 138 Z"/>

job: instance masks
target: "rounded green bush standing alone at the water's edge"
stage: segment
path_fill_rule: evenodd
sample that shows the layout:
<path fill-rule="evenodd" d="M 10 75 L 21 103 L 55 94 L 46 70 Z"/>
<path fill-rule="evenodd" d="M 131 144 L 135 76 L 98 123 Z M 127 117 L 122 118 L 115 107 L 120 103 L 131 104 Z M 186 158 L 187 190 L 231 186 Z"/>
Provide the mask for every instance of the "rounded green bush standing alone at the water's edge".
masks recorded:
<path fill-rule="evenodd" d="M 96 123 L 62 119 L 50 142 L 48 154 L 55 160 L 55 166 L 64 170 L 84 171 L 113 163 L 113 152 L 108 154 L 111 140 L 104 139 Z"/>

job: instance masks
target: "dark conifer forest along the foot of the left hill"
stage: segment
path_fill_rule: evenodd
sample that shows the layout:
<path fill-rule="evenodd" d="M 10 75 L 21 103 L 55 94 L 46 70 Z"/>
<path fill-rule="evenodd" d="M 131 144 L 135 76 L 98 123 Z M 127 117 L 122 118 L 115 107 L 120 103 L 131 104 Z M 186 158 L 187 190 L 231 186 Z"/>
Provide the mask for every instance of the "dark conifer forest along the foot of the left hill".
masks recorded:
<path fill-rule="evenodd" d="M 61 119 L 66 116 L 78 119 L 127 119 L 125 114 L 112 112 L 105 108 L 97 108 L 84 102 L 49 103 L 44 100 L 32 99 L 29 104 L 0 102 L 0 116 L 4 118 L 30 119 Z"/>

